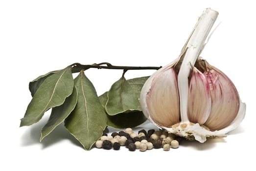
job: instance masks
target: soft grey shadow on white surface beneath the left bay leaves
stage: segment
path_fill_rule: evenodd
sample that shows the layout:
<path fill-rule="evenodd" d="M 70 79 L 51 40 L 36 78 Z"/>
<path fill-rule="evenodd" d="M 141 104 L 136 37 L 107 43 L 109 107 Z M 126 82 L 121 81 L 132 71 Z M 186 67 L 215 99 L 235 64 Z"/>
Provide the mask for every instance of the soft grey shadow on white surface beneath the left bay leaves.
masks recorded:
<path fill-rule="evenodd" d="M 77 141 L 64 127 L 64 123 L 57 126 L 40 143 L 41 129 L 45 125 L 45 123 L 47 123 L 47 120 L 40 121 L 39 123 L 32 125 L 27 130 L 25 130 L 24 134 L 21 137 L 21 146 L 42 144 L 42 149 L 45 149 L 55 143 L 68 139 L 72 144 L 83 148 L 79 141 Z"/>

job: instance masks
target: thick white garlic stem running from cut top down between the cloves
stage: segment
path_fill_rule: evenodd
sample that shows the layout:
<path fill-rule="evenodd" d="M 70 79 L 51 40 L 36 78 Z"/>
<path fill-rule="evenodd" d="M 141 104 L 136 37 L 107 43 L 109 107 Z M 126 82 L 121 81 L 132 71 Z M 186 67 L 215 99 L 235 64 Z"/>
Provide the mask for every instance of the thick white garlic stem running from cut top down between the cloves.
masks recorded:
<path fill-rule="evenodd" d="M 183 62 L 178 74 L 178 89 L 180 94 L 180 113 L 181 122 L 189 122 L 187 116 L 187 101 L 188 101 L 188 77 L 191 72 L 191 66 L 195 64 L 196 59 L 209 31 L 216 21 L 218 12 L 207 8 L 197 21 L 191 35 L 189 36 L 185 48 L 187 48 Z"/>

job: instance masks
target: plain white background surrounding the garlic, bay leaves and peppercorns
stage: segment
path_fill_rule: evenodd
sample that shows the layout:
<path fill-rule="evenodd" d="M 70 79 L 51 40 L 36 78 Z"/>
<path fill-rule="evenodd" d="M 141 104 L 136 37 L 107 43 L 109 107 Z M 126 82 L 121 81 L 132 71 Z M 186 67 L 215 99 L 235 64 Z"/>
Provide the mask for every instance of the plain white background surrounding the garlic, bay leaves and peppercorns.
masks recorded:
<path fill-rule="evenodd" d="M 245 170 L 255 154 L 256 10 L 248 0 L 1 0 L 0 156 L 1 171 L 46 170 Z M 59 126 L 42 143 L 38 123 L 19 128 L 31 100 L 29 81 L 69 64 L 109 62 L 160 66 L 180 53 L 197 18 L 211 7 L 219 12 L 202 57 L 226 73 L 247 104 L 244 121 L 227 138 L 204 144 L 185 142 L 170 151 L 130 152 L 81 145 Z M 128 71 L 126 78 L 153 70 Z M 87 70 L 98 94 L 122 74 Z M 146 128 L 154 128 L 150 123 Z"/>

